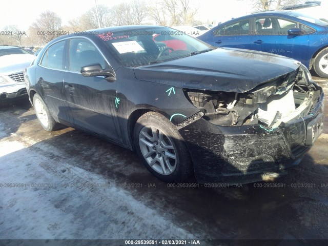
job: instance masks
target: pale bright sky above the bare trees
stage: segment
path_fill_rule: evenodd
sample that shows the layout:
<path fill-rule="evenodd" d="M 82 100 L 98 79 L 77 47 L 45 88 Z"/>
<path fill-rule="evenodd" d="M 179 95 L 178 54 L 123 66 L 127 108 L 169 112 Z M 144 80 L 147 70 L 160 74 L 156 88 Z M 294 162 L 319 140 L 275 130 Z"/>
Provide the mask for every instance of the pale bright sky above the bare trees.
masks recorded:
<path fill-rule="evenodd" d="M 128 0 L 96 0 L 97 5 L 112 7 Z M 204 23 L 217 24 L 220 21 L 245 15 L 251 11 L 251 0 L 190 0 L 192 6 L 198 7 L 197 19 Z M 146 1 L 146 4 L 151 1 Z M 62 25 L 78 17 L 95 6 L 95 0 L 3 0 L 0 11 L 0 31 L 7 25 L 17 25 L 22 31 L 36 20 L 40 13 L 51 10 L 61 17 Z"/>

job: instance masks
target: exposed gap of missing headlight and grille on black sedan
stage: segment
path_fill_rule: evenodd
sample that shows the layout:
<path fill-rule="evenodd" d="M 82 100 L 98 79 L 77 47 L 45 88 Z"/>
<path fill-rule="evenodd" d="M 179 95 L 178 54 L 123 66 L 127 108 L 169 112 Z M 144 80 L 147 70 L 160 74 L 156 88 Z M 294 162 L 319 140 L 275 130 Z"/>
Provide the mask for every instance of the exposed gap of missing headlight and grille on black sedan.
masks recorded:
<path fill-rule="evenodd" d="M 303 65 L 245 93 L 184 91 L 202 117 L 214 125 L 259 124 L 266 130 L 311 114 L 321 94 Z"/>

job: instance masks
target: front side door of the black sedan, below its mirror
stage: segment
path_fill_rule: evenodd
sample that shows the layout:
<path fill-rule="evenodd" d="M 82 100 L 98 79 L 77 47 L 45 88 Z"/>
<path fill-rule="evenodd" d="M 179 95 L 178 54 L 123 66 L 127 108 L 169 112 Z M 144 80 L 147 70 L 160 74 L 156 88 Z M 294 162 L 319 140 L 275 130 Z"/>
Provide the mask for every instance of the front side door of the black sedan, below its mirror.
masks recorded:
<path fill-rule="evenodd" d="M 116 116 L 116 105 L 119 103 L 116 100 L 116 80 L 106 80 L 104 76 L 85 77 L 80 73 L 81 67 L 95 63 L 99 63 L 104 70 L 112 71 L 91 40 L 71 38 L 64 90 L 74 125 L 122 142 Z"/>

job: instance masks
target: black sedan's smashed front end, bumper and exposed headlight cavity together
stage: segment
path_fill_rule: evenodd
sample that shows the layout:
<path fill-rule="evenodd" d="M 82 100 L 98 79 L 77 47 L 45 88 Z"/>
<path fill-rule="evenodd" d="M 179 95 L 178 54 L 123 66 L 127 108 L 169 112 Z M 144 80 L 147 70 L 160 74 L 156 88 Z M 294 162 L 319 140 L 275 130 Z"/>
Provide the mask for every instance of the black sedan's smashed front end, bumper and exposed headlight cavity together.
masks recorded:
<path fill-rule="evenodd" d="M 199 182 L 278 177 L 322 132 L 323 91 L 303 65 L 247 92 L 183 91 L 199 110 L 178 125 Z"/>

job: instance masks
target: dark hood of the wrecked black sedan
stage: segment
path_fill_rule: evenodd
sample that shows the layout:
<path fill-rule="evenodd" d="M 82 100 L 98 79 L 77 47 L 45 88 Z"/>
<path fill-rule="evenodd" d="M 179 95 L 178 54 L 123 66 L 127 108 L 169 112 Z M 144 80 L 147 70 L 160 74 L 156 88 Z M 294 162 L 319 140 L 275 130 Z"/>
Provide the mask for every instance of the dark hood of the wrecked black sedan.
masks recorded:
<path fill-rule="evenodd" d="M 202 54 L 134 69 L 137 79 L 175 87 L 247 92 L 297 70 L 294 59 L 265 52 L 219 48 Z"/>

